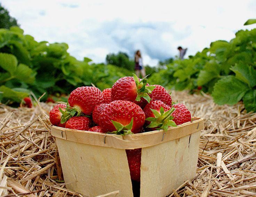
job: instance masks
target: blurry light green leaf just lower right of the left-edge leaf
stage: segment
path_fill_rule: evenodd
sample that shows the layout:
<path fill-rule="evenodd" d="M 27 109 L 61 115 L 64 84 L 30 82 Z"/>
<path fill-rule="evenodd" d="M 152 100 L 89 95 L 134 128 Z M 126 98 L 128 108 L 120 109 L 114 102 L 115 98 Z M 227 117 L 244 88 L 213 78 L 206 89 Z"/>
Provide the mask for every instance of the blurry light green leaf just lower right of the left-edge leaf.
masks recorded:
<path fill-rule="evenodd" d="M 19 64 L 16 70 L 15 78 L 25 82 L 33 83 L 35 81 L 35 72 L 25 64 Z"/>

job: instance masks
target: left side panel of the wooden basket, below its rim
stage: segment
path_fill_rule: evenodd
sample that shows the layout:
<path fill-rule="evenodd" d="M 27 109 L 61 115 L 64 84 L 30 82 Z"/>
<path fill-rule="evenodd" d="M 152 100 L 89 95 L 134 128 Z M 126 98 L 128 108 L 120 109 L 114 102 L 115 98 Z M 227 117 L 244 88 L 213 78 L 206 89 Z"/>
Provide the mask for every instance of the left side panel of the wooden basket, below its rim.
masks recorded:
<path fill-rule="evenodd" d="M 117 197 L 133 197 L 125 150 L 56 138 L 64 180 L 70 190 L 95 197 L 119 190 Z"/>

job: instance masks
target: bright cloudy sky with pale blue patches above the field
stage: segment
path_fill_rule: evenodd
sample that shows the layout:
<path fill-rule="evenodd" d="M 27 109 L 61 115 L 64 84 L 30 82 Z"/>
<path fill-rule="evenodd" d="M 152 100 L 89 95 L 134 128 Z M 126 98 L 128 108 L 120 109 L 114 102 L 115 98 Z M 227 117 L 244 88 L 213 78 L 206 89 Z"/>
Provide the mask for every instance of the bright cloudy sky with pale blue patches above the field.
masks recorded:
<path fill-rule="evenodd" d="M 108 53 L 141 50 L 143 63 L 157 65 L 178 55 L 234 38 L 249 18 L 256 18 L 255 0 L 1 0 L 25 34 L 37 41 L 65 42 L 79 60 L 105 62 Z"/>

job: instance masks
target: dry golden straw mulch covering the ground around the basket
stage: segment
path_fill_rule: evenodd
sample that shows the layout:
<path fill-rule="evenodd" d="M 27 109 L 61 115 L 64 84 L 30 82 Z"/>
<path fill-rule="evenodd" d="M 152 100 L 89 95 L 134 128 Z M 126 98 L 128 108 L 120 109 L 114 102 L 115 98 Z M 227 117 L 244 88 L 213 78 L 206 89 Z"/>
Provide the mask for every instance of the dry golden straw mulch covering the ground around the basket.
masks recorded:
<path fill-rule="evenodd" d="M 207 95 L 173 92 L 195 117 L 205 119 L 197 176 L 170 196 L 256 196 L 256 114 L 239 103 L 218 106 Z M 0 105 L 0 196 L 82 196 L 65 188 L 48 114 Z M 68 183 L 67 183 L 68 184 Z"/>

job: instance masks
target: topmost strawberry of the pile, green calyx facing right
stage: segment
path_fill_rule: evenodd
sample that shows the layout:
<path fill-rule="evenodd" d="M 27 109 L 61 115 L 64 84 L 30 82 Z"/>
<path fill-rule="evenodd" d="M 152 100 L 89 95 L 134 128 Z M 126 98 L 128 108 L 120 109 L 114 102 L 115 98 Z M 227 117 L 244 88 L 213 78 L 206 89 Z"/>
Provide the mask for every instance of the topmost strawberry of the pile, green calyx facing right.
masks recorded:
<path fill-rule="evenodd" d="M 112 86 L 111 101 L 128 100 L 135 102 L 144 98 L 147 102 L 150 102 L 148 94 L 154 88 L 153 86 L 147 86 L 147 79 L 139 80 L 135 74 L 133 74 L 133 77 L 122 77 Z"/>

